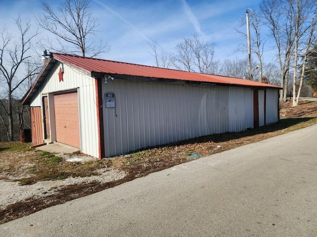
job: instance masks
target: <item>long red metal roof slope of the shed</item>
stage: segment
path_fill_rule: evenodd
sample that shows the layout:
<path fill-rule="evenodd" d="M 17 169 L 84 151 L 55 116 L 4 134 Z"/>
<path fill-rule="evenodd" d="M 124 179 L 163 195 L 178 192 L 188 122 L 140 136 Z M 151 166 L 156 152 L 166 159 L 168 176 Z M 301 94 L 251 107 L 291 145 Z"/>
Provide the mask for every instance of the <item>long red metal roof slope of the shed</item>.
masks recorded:
<path fill-rule="evenodd" d="M 280 88 L 279 86 L 269 85 L 260 83 L 257 81 L 230 78 L 224 76 L 208 75 L 201 73 L 184 72 L 173 69 L 157 68 L 151 66 L 144 66 L 131 63 L 123 63 L 116 61 L 109 61 L 96 58 L 86 58 L 75 55 L 58 54 L 53 53 L 53 58 L 60 62 L 69 64 L 79 70 L 95 73 L 104 73 L 111 75 L 128 75 L 136 77 L 146 78 L 158 78 L 158 79 L 176 79 L 176 80 L 187 80 L 197 82 L 209 82 L 219 84 L 232 84 L 232 85 L 243 85 L 243 86 L 256 86 L 256 87 L 273 87 Z"/>

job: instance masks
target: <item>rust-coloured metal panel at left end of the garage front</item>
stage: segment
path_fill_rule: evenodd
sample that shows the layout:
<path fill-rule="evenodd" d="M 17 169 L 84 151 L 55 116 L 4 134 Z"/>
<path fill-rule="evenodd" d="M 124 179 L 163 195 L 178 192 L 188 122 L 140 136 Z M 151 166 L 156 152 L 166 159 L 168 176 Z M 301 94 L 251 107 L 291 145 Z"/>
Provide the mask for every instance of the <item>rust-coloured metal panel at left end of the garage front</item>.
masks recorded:
<path fill-rule="evenodd" d="M 32 143 L 34 145 L 42 144 L 44 142 L 41 112 L 41 107 L 31 107 L 31 133 Z"/>

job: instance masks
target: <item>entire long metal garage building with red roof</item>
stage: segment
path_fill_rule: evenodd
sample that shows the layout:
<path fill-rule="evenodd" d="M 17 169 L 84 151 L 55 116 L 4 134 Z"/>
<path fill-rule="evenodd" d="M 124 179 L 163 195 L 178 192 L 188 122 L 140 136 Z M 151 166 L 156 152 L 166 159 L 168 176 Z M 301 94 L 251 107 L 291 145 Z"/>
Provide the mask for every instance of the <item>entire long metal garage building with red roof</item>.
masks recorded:
<path fill-rule="evenodd" d="M 111 157 L 279 119 L 280 87 L 52 53 L 24 96 L 32 142 Z"/>

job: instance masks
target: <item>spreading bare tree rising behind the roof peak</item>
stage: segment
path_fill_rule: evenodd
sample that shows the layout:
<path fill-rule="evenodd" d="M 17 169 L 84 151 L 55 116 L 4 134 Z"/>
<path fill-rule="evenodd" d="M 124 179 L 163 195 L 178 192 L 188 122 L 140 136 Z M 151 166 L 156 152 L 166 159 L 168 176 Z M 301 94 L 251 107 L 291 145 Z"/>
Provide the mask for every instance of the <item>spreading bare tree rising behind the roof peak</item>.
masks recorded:
<path fill-rule="evenodd" d="M 94 57 L 110 50 L 106 43 L 97 44 L 94 40 L 99 25 L 89 11 L 89 4 L 90 0 L 65 0 L 54 11 L 49 3 L 42 3 L 44 14 L 36 19 L 56 37 L 58 48 L 56 42 L 45 40 L 51 51 Z"/>

